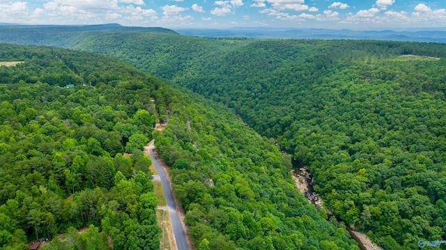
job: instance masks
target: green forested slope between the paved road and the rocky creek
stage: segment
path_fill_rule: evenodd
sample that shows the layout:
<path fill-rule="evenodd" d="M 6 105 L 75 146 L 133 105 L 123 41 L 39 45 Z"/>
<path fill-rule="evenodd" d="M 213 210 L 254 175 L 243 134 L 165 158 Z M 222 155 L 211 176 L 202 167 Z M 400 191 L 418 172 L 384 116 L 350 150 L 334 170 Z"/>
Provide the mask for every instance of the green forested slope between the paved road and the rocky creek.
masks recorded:
<path fill-rule="evenodd" d="M 218 104 L 171 104 L 155 146 L 199 249 L 358 249 L 294 187 L 291 157 Z M 205 105 L 203 105 L 205 104 Z M 183 106 L 182 106 L 183 105 Z"/>

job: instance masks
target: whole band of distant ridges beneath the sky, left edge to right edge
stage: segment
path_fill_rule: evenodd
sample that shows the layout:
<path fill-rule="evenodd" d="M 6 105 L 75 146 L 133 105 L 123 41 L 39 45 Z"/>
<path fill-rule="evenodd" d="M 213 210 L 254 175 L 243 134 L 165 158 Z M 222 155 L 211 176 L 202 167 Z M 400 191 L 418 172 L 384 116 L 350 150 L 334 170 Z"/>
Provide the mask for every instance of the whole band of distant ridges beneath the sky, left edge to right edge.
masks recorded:
<path fill-rule="evenodd" d="M 353 31 L 349 29 L 293 29 L 293 28 L 263 28 L 238 27 L 231 29 L 164 29 L 160 27 L 121 26 L 121 24 L 97 25 L 20 25 L 0 22 L 0 38 L 2 42 L 17 42 L 8 38 L 13 33 L 24 33 L 29 42 L 20 44 L 36 44 L 41 40 L 41 31 L 47 36 L 52 33 L 56 37 L 79 35 L 84 31 L 152 31 L 161 33 L 180 33 L 185 36 L 199 36 L 204 38 L 263 38 L 263 39 L 322 39 L 322 40 L 393 40 L 401 42 L 440 42 L 446 43 L 446 28 L 410 29 L 410 30 L 382 30 L 382 31 Z M 33 36 L 30 34 L 35 33 Z M 37 34 L 36 34 L 37 33 Z M 38 39 L 36 39 L 38 37 Z M 34 40 L 34 41 L 32 41 Z M 37 42 L 40 44 L 40 42 Z M 57 42 L 56 42 L 57 43 Z M 49 42 L 49 44 L 52 44 Z M 54 44 L 57 46 L 57 44 Z M 66 46 L 57 46 L 66 47 Z"/>

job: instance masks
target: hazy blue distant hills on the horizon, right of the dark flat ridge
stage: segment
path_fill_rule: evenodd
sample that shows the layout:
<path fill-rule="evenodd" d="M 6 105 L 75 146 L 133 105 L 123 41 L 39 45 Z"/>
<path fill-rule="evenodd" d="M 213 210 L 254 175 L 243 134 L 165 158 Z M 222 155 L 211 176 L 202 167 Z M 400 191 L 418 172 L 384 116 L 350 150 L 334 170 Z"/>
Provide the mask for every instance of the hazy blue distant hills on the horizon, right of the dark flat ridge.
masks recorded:
<path fill-rule="evenodd" d="M 348 39 L 394 40 L 411 42 L 446 42 L 446 30 L 431 31 L 353 31 L 348 29 L 284 29 L 284 28 L 232 28 L 232 29 L 175 29 L 186 36 L 206 38 L 275 38 L 275 39 Z"/>

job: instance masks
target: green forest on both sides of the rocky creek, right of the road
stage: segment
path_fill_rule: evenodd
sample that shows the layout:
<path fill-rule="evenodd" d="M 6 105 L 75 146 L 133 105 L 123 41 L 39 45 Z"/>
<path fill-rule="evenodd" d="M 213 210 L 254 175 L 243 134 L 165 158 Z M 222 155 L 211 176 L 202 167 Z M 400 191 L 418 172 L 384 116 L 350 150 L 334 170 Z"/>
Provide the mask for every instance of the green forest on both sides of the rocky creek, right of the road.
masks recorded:
<path fill-rule="evenodd" d="M 197 246 L 356 247 L 292 187 L 290 159 L 272 143 L 308 167 L 328 210 L 384 249 L 446 240 L 446 45 L 104 31 L 61 46 L 207 97 L 176 94 L 190 105 L 169 104 L 176 115 L 155 141 Z"/>

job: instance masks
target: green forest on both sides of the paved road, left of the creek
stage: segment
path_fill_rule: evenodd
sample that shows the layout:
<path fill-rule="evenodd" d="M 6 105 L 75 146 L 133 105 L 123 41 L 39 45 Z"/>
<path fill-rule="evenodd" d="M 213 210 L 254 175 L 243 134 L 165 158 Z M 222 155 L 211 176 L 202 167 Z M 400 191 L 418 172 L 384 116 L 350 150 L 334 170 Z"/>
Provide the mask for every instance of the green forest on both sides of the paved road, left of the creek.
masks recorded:
<path fill-rule="evenodd" d="M 3 61 L 24 61 L 0 66 L 3 249 L 26 249 L 36 237 L 54 239 L 44 249 L 107 249 L 105 235 L 114 249 L 159 248 L 150 159 L 141 154 L 151 98 L 160 114 L 169 109 L 155 143 L 197 249 L 358 249 L 344 224 L 293 186 L 291 157 L 221 104 L 114 58 L 0 48 Z M 63 232 L 70 240 L 55 237 Z"/>

